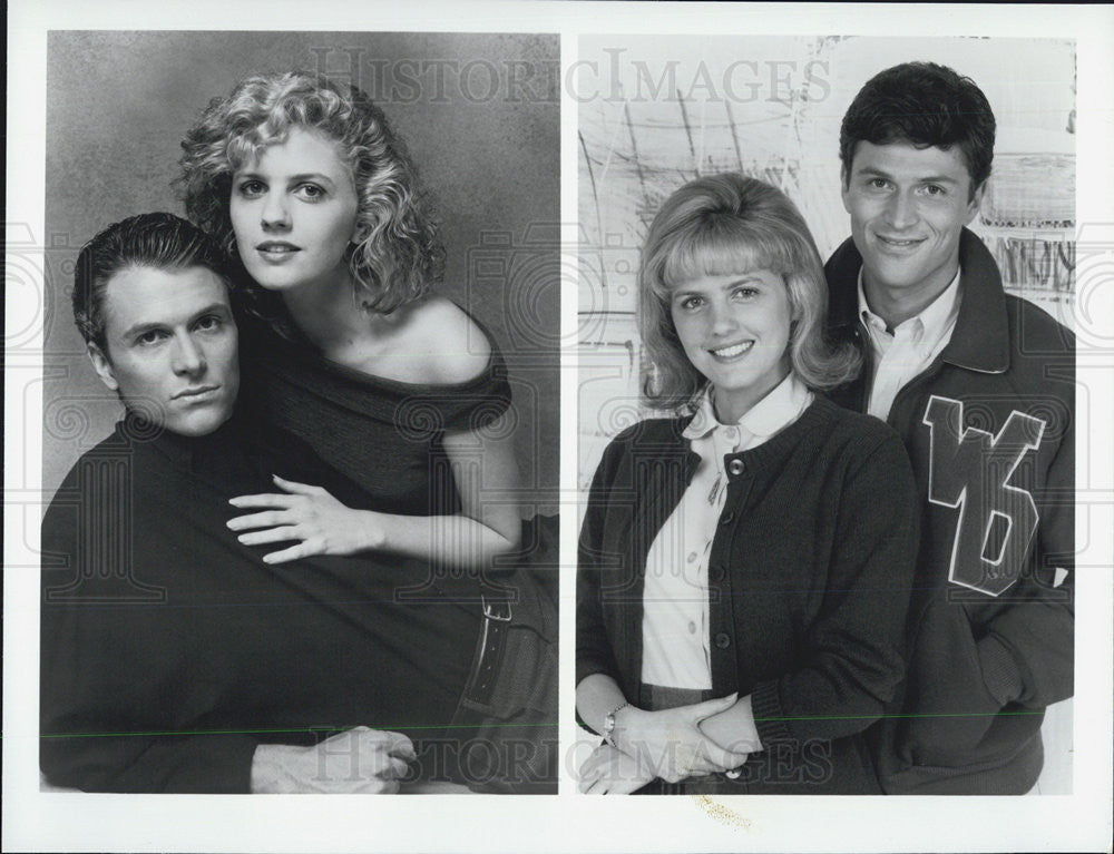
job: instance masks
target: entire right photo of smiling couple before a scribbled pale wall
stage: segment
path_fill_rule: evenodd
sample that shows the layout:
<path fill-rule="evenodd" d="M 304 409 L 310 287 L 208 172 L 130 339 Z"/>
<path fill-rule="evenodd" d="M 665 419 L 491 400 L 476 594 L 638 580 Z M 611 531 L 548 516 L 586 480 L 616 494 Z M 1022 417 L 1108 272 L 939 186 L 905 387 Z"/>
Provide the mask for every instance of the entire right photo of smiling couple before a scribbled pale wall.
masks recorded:
<path fill-rule="evenodd" d="M 1072 794 L 1076 46 L 578 41 L 587 794 Z"/>

